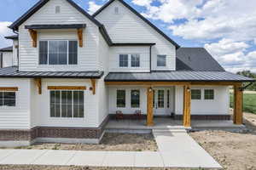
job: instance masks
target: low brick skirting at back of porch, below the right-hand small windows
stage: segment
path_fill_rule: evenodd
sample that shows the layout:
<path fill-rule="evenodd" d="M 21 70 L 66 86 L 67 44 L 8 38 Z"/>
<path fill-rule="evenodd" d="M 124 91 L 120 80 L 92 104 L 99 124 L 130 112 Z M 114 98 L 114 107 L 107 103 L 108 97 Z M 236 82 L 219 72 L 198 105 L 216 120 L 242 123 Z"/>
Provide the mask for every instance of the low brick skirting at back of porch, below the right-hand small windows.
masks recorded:
<path fill-rule="evenodd" d="M 224 121 L 230 120 L 230 115 L 191 115 L 191 120 Z M 175 120 L 182 120 L 183 115 L 175 115 Z"/>

